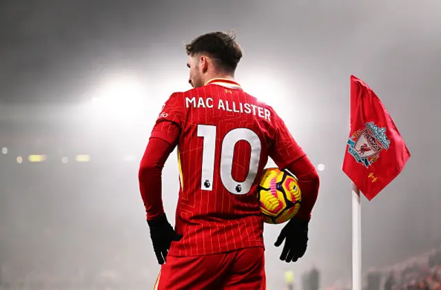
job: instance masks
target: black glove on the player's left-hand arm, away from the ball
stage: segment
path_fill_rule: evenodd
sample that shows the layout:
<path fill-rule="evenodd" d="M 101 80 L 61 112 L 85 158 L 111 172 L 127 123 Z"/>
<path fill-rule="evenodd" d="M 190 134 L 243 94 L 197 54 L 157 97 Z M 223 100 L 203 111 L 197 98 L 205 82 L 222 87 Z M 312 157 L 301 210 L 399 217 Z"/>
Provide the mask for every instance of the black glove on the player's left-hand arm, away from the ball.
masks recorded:
<path fill-rule="evenodd" d="M 165 214 L 154 220 L 147 220 L 150 227 L 150 238 L 152 238 L 153 250 L 160 265 L 164 264 L 168 250 L 172 242 L 181 240 L 183 235 L 176 234 Z"/>

